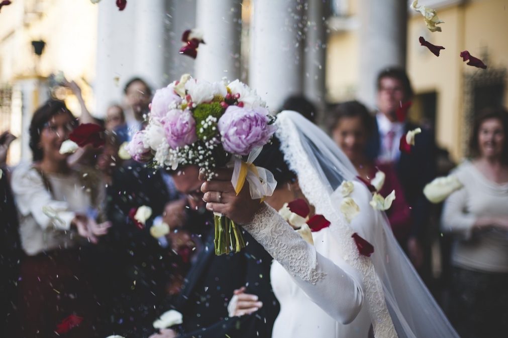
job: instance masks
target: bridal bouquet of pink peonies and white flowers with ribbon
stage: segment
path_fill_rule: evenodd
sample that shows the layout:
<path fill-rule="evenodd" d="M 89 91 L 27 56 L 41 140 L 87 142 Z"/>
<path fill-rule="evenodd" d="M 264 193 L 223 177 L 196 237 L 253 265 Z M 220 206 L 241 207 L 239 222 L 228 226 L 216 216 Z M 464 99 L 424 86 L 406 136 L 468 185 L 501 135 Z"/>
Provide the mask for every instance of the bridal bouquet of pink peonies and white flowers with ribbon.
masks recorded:
<path fill-rule="evenodd" d="M 263 199 L 277 182 L 252 162 L 275 132 L 274 122 L 256 91 L 240 81 L 210 83 L 184 74 L 155 92 L 148 124 L 133 136 L 128 151 L 155 167 L 197 165 L 207 179 L 216 168 L 232 166 L 236 194 L 247 180 L 252 199 Z M 237 224 L 221 214 L 214 219 L 215 253 L 240 251 L 245 242 Z"/>

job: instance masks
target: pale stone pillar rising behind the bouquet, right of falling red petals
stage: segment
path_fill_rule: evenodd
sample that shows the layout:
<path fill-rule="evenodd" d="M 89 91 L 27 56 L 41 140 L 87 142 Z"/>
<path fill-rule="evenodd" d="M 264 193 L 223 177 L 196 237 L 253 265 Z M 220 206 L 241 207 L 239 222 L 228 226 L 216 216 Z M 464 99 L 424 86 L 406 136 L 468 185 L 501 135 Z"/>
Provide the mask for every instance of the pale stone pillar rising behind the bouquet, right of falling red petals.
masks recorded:
<path fill-rule="evenodd" d="M 196 78 L 210 82 L 240 78 L 241 2 L 198 0 L 196 10 L 196 26 L 205 41 L 196 58 Z"/>

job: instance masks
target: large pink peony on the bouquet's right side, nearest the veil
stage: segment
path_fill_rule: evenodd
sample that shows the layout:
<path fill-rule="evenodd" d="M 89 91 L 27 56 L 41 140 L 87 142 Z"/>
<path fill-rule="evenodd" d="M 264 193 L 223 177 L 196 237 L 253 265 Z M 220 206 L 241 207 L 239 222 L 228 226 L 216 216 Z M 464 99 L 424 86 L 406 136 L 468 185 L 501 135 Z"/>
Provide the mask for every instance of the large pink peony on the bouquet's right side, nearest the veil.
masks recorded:
<path fill-rule="evenodd" d="M 276 127 L 268 125 L 268 109 L 229 106 L 218 122 L 224 149 L 236 155 L 248 155 L 265 145 Z"/>

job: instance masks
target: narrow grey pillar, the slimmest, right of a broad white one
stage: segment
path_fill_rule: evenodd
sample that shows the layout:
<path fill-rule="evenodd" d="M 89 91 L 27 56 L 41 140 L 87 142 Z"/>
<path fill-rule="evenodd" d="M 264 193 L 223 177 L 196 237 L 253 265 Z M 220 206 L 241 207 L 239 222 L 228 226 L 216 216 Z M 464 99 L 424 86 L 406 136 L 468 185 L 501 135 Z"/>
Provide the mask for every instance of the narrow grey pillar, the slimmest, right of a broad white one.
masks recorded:
<path fill-rule="evenodd" d="M 309 1 L 304 48 L 304 94 L 320 108 L 325 106 L 326 0 Z"/>

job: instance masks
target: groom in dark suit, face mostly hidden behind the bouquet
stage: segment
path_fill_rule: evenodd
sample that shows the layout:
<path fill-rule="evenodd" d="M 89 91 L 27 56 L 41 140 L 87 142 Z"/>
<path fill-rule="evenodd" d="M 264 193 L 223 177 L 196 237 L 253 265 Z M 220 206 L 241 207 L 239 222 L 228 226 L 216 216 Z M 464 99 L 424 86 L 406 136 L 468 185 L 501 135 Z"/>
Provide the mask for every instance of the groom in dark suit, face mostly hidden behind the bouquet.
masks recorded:
<path fill-rule="evenodd" d="M 216 256 L 212 214 L 207 214 L 200 224 L 193 221 L 200 218 L 196 216 L 205 207 L 198 167 L 183 167 L 172 176 L 176 189 L 187 196 L 186 228 L 198 232 L 202 245 L 198 245 L 201 251 L 184 280 L 179 297 L 167 309 L 182 313 L 183 324 L 178 326 L 178 332 L 163 330 L 151 337 L 271 337 L 279 312 L 270 284 L 272 257 L 248 233 L 244 233 L 247 245 L 241 252 Z M 242 286 L 246 287 L 246 293 L 258 295 L 262 306 L 250 315 L 229 318 L 227 306 L 234 290 Z"/>

